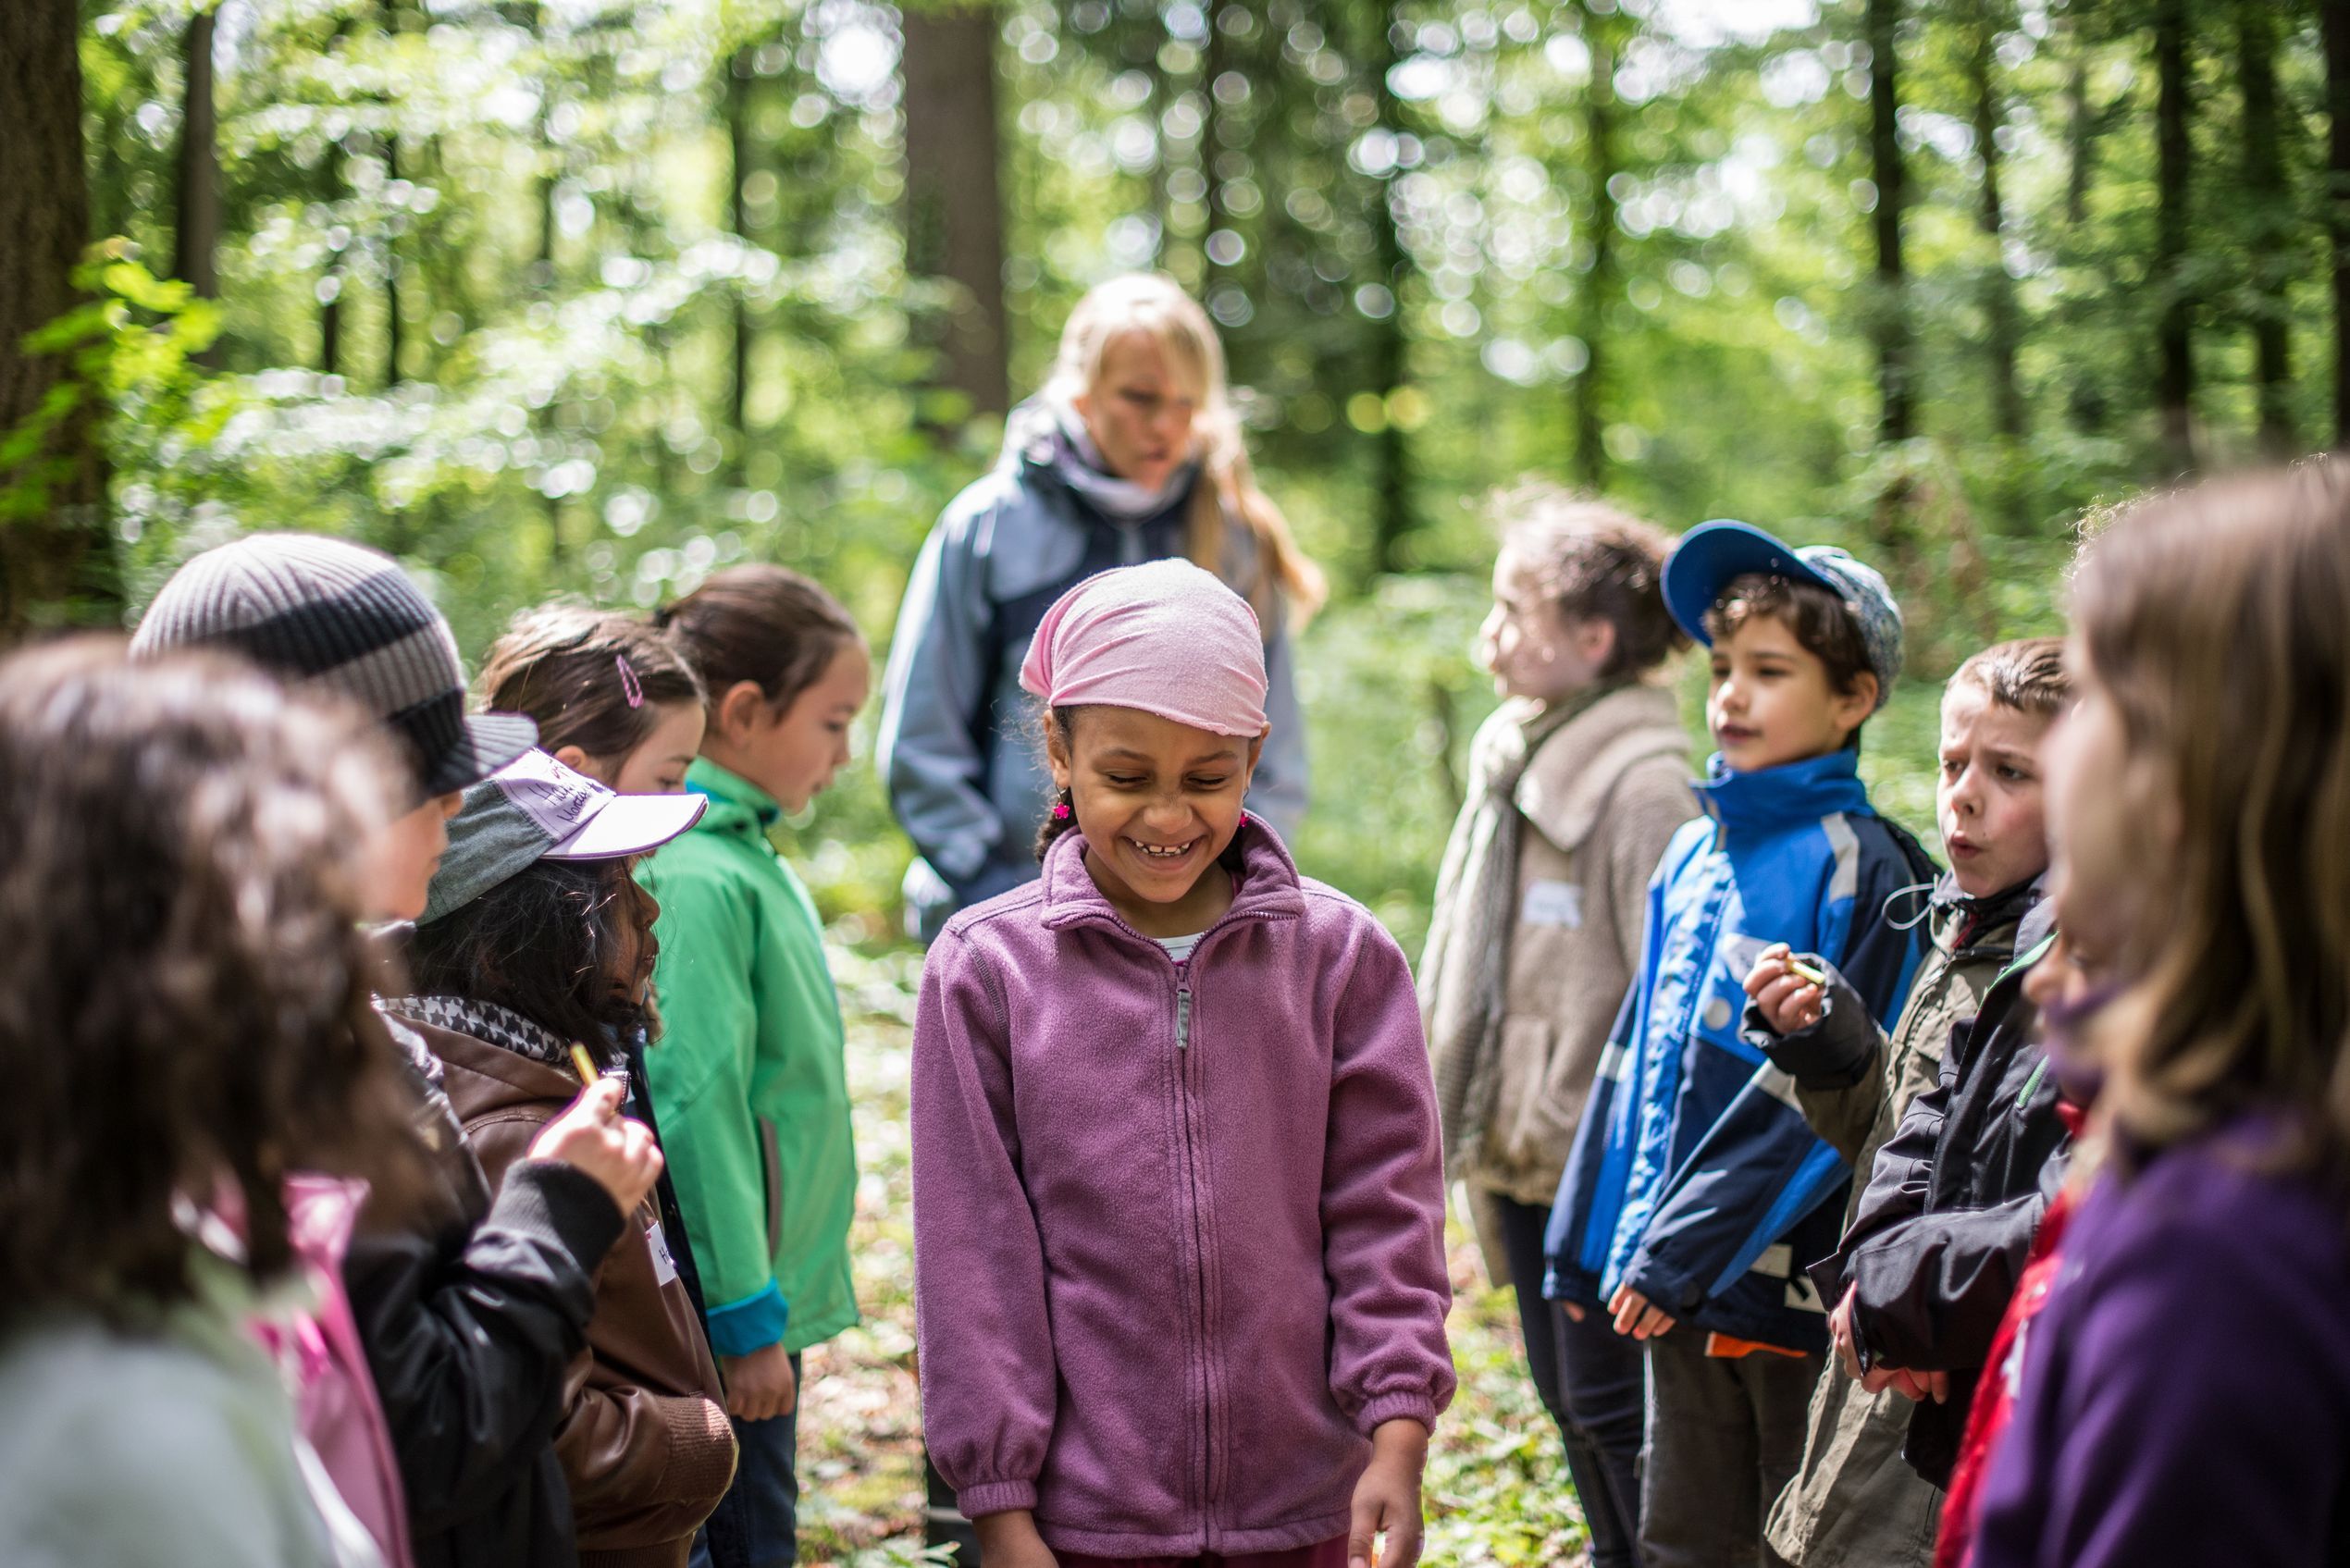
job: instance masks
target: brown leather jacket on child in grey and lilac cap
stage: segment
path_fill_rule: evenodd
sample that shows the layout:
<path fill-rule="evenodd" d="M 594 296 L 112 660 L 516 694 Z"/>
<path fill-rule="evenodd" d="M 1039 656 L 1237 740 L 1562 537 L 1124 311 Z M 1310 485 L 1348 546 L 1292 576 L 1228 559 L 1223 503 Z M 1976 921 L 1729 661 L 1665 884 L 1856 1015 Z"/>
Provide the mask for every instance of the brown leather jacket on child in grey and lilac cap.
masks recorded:
<path fill-rule="evenodd" d="M 578 1079 L 470 1034 L 414 1027 L 442 1058 L 482 1171 L 503 1182 L 578 1095 Z M 580 1568 L 684 1568 L 693 1530 L 733 1481 L 719 1368 L 684 1284 L 653 1272 L 653 1218 L 646 1199 L 597 1269 L 588 1349 L 571 1363 L 555 1427 Z"/>

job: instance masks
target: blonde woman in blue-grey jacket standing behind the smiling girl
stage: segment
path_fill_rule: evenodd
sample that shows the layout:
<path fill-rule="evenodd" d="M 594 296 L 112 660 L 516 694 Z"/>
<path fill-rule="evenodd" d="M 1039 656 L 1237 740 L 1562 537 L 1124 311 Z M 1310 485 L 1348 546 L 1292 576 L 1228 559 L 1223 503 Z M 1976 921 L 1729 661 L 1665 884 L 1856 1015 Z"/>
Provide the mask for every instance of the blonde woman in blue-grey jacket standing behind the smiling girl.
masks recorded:
<path fill-rule="evenodd" d="M 1250 806 L 1288 837 L 1307 804 L 1288 618 L 1321 604 L 1323 578 L 1257 489 L 1208 315 L 1173 280 L 1135 273 L 1079 301 L 1050 378 L 1013 409 L 994 470 L 931 529 L 898 609 L 879 764 L 921 853 L 905 893 L 924 938 L 1036 875 L 1053 790 L 1020 658 L 1043 611 L 1095 571 L 1170 555 L 1257 611 L 1274 731 Z"/>

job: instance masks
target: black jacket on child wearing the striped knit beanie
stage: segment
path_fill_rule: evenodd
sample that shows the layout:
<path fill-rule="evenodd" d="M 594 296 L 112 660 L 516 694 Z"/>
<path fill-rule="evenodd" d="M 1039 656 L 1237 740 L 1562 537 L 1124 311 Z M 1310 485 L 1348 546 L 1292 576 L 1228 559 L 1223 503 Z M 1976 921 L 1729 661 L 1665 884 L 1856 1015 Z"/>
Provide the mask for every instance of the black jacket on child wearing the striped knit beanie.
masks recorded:
<path fill-rule="evenodd" d="M 592 1175 L 543 1159 L 515 1164 L 491 1199 L 439 1060 L 411 1030 L 392 1034 L 437 1187 L 414 1222 L 369 1213 L 343 1281 L 400 1458 L 416 1568 L 571 1568 L 555 1420 L 620 1211 Z"/>

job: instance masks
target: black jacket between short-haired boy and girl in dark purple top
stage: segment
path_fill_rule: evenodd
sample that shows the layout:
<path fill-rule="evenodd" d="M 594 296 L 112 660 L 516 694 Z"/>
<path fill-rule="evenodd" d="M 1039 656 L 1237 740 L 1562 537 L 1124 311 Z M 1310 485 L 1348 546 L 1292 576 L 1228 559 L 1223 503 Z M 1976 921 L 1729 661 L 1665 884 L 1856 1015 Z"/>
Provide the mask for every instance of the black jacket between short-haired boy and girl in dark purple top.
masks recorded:
<path fill-rule="evenodd" d="M 1950 1476 L 1976 1375 L 2073 1147 L 2023 997 L 2023 976 L 2054 940 L 2052 917 L 2054 905 L 2033 910 L 2021 957 L 1976 1018 L 1950 1032 L 1941 1081 L 1878 1150 L 1842 1246 L 1814 1272 L 1824 1295 L 1854 1288 L 1864 1368 L 1950 1373 L 1950 1399 L 1920 1403 L 1904 1446 L 1936 1486 Z"/>

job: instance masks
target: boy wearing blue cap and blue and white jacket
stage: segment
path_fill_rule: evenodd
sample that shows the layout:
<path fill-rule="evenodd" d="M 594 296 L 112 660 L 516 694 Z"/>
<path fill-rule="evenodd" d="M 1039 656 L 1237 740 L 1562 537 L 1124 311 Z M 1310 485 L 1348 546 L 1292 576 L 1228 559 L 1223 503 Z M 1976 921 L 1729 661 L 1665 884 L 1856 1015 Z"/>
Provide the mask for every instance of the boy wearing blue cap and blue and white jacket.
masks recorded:
<path fill-rule="evenodd" d="M 1673 618 L 1711 649 L 1706 816 L 1650 879 L 1631 992 L 1551 1211 L 1546 1293 L 1647 1347 L 1647 1568 L 1767 1559 L 1762 1521 L 1802 1460 L 1828 1342 L 1802 1265 L 1835 1251 L 1849 1166 L 1793 1079 L 1739 1037 L 1770 943 L 1824 954 L 1880 1023 L 1925 936 L 1885 903 L 1934 863 L 1880 818 L 1859 731 L 1901 665 L 1885 578 L 1744 522 L 1692 529 L 1664 567 Z"/>

